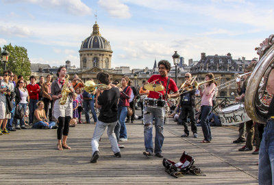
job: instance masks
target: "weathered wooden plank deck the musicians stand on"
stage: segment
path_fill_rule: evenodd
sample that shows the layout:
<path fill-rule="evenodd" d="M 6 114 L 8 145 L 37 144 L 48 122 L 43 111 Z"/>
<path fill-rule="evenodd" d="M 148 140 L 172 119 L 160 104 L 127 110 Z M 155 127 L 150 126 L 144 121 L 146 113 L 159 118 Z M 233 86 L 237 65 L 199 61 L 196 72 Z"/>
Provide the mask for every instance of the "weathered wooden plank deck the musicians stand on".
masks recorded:
<path fill-rule="evenodd" d="M 212 127 L 212 143 L 182 139 L 183 126 L 169 120 L 164 127 L 164 158 L 179 161 L 184 151 L 206 176 L 176 179 L 164 172 L 162 158 L 146 158 L 143 126 L 127 124 L 128 141 L 121 142 L 122 158 L 114 158 L 106 133 L 99 142 L 100 156 L 90 163 L 90 138 L 95 125 L 70 128 L 72 150 L 56 150 L 56 130 L 17 130 L 0 136 L 0 184 L 258 184 L 258 155 L 238 152 L 236 128 Z"/>

